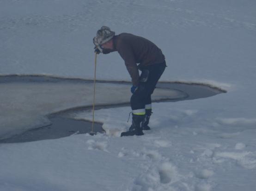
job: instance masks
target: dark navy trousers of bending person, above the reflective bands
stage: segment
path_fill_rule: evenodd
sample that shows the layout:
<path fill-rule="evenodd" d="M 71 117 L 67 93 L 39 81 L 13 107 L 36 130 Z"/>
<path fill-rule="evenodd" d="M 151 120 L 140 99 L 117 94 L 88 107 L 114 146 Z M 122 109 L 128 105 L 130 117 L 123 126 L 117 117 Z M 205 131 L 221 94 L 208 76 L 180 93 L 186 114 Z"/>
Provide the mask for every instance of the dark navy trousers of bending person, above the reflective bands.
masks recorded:
<path fill-rule="evenodd" d="M 143 81 L 140 80 L 140 84 L 138 86 L 138 89 L 135 91 L 135 93 L 132 95 L 130 103 L 132 110 L 140 110 L 145 109 L 145 105 L 151 104 L 151 95 L 154 92 L 154 89 L 156 88 L 157 82 L 160 79 L 161 75 L 165 71 L 166 64 L 152 64 L 150 66 L 146 66 L 144 68 L 141 68 L 142 73 L 140 75 L 141 77 L 145 74 L 144 70 L 148 70 L 148 76 L 147 80 Z"/>

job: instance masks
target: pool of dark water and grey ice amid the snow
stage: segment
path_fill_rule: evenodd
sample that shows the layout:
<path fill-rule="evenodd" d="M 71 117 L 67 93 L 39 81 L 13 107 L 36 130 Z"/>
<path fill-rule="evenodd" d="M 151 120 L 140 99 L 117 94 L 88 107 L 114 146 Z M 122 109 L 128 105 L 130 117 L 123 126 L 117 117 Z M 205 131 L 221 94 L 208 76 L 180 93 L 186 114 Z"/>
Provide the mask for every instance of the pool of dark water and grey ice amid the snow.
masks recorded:
<path fill-rule="evenodd" d="M 58 139 L 90 132 L 91 122 L 77 119 L 75 114 L 91 111 L 92 83 L 51 76 L 1 76 L 0 112 L 5 118 L 0 118 L 0 142 Z M 96 110 L 128 106 L 129 86 L 125 81 L 97 81 Z M 106 95 L 107 89 L 113 89 L 113 93 Z M 173 102 L 224 92 L 202 84 L 159 82 L 152 99 Z M 95 132 L 104 132 L 101 123 L 95 124 Z"/>

